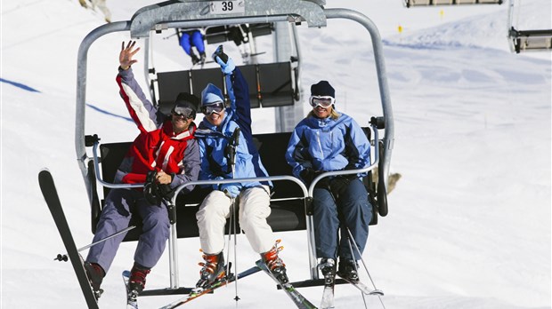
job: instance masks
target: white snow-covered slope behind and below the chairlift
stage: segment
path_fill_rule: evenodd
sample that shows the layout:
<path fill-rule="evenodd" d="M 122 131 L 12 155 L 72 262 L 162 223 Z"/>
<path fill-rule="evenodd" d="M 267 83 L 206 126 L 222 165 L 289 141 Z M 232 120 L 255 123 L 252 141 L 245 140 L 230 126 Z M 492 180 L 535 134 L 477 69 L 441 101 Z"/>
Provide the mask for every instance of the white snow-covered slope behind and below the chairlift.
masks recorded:
<path fill-rule="evenodd" d="M 386 308 L 550 308 L 551 54 L 509 52 L 506 4 L 406 9 L 401 2 L 328 1 L 328 7 L 367 15 L 385 42 L 395 118 L 391 167 L 402 179 L 389 195 L 389 215 L 370 228 L 364 253 L 377 288 L 386 292 L 381 299 Z M 108 1 L 113 20 L 129 20 L 152 3 Z M 83 308 L 72 267 L 53 261 L 64 249 L 37 173 L 45 167 L 53 172 L 77 246 L 89 243 L 89 206 L 74 147 L 76 64 L 80 42 L 103 18 L 73 0 L 1 5 L 1 306 Z M 524 1 L 516 14 L 519 27 L 552 28 L 550 6 L 549 0 Z M 327 79 L 337 89 L 337 108 L 359 123 L 381 114 L 365 29 L 329 20 L 329 28 L 302 27 L 299 34 L 304 91 Z M 137 133 L 115 83 L 120 42 L 128 38 L 104 36 L 88 55 L 86 133 L 99 134 L 102 142 L 132 140 Z M 155 44 L 159 71 L 189 65 L 174 38 Z M 258 47 L 270 56 L 269 43 Z M 254 116 L 254 131 L 273 130 L 272 110 Z M 278 236 L 290 279 L 307 279 L 304 232 Z M 199 240 L 178 242 L 180 283 L 191 286 L 198 278 Z M 121 246 L 102 286 L 101 308 L 124 307 L 119 273 L 132 265 L 134 247 Z M 257 258 L 244 238 L 238 250 L 241 269 Z M 168 282 L 165 255 L 148 288 Z M 232 285 L 187 307 L 291 307 L 263 274 L 239 281 L 238 288 L 237 304 Z M 321 287 L 301 292 L 319 304 Z M 140 302 L 156 308 L 175 298 Z M 366 302 L 382 307 L 377 297 Z M 358 291 L 346 285 L 336 288 L 336 306 L 364 307 Z"/>

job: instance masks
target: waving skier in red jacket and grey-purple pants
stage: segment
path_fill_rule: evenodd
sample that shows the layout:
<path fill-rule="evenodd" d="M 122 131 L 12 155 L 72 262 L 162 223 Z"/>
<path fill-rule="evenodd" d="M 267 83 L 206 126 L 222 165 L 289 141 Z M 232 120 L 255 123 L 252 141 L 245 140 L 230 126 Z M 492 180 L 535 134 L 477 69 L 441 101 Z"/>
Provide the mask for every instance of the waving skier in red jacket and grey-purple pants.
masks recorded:
<path fill-rule="evenodd" d="M 199 99 L 189 93 L 180 93 L 175 99 L 171 115 L 166 118 L 146 99 L 142 89 L 134 79 L 130 68 L 136 60 L 132 59 L 140 48 L 134 49 L 134 43 L 123 43 L 119 54 L 120 67 L 117 82 L 121 98 L 140 130 L 140 134 L 123 162 L 116 176 L 116 183 L 146 183 L 162 188 L 156 194 L 165 195 L 160 199 L 147 198 L 139 189 L 112 189 L 105 199 L 101 217 L 96 228 L 93 242 L 105 239 L 126 228 L 130 218 L 138 215 L 142 218 L 142 235 L 134 253 L 134 265 L 129 280 L 129 297 L 136 297 L 145 286 L 145 277 L 157 264 L 166 247 L 169 235 L 169 219 L 166 200 L 175 188 L 199 175 L 199 146 L 194 139 L 196 124 L 193 120 L 199 106 Z M 151 115 L 156 115 L 150 117 Z M 147 188 L 147 186 L 146 186 Z M 186 186 L 181 193 L 191 192 L 193 186 Z M 161 192 L 161 194 L 159 194 Z M 101 281 L 110 269 L 119 244 L 125 238 L 120 234 L 105 242 L 94 245 L 85 260 L 85 269 L 96 296 L 101 294 Z"/>

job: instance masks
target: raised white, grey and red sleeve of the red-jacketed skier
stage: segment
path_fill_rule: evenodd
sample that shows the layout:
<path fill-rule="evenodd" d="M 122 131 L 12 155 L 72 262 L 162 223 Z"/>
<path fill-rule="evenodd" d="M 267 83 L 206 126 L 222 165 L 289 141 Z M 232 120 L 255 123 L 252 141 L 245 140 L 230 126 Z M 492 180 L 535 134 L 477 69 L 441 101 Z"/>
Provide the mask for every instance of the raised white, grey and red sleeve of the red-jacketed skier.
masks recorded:
<path fill-rule="evenodd" d="M 126 109 L 138 129 L 142 133 L 157 130 L 158 126 L 163 123 L 162 115 L 158 113 L 158 109 L 151 104 L 150 100 L 146 99 L 142 88 L 134 79 L 132 68 L 119 69 L 117 83 Z"/>

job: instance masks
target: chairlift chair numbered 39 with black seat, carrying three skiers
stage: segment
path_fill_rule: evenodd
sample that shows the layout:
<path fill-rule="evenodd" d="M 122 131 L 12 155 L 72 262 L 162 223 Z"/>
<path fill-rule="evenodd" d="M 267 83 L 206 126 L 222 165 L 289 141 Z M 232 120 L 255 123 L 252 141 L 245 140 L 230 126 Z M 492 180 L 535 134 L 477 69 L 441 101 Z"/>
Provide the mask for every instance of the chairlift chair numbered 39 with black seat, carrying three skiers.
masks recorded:
<path fill-rule="evenodd" d="M 379 172 L 377 178 L 377 196 L 372 198 L 377 199 L 374 204 L 380 216 L 386 216 L 386 184 L 389 175 L 389 166 L 394 145 L 394 117 L 389 97 L 386 67 L 383 57 L 383 44 L 376 26 L 368 17 L 348 9 L 325 9 L 323 0 L 246 0 L 241 2 L 245 4 L 233 12 L 216 12 L 210 10 L 212 7 L 211 1 L 203 0 L 181 0 L 181 1 L 166 1 L 159 4 L 153 4 L 143 7 L 134 13 L 131 20 L 115 21 L 110 24 L 102 25 L 95 28 L 87 36 L 79 46 L 77 57 L 77 99 L 76 99 L 76 128 L 75 128 L 75 146 L 77 152 L 77 163 L 82 171 L 85 181 L 86 190 L 88 193 L 89 202 L 91 205 L 92 224 L 95 228 L 95 222 L 101 212 L 101 199 L 98 194 L 99 183 L 104 190 L 111 188 L 131 188 L 142 187 L 141 184 L 127 185 L 112 183 L 114 174 L 113 169 L 117 169 L 118 162 L 125 154 L 126 148 L 130 143 L 112 143 L 101 144 L 100 138 L 95 135 L 85 134 L 85 101 L 86 101 L 86 69 L 87 69 L 87 52 L 93 42 L 101 36 L 115 32 L 130 32 L 133 39 L 143 38 L 149 40 L 152 32 L 163 31 L 169 28 L 208 28 L 221 27 L 229 25 L 241 24 L 263 24 L 272 22 L 290 22 L 294 24 L 306 24 L 309 28 L 326 27 L 328 19 L 348 19 L 360 23 L 369 32 L 372 48 L 374 52 L 377 83 L 379 85 L 379 94 L 383 116 L 374 117 L 369 123 L 368 131 L 371 131 L 372 144 L 375 147 L 375 156 L 372 164 L 362 170 L 348 171 L 331 171 L 326 173 L 328 176 L 341 175 L 345 173 L 369 172 L 378 167 Z M 146 44 L 147 45 L 147 42 Z M 148 52 L 145 52 L 148 53 Z M 147 55 L 146 55 L 147 57 Z M 220 71 L 220 70 L 219 70 Z M 150 74 L 148 66 L 144 66 L 146 76 Z M 190 72 L 188 72 L 190 73 Z M 180 77 L 178 77 L 180 76 Z M 171 79 L 171 76 L 165 76 Z M 178 73 L 173 78 L 187 78 L 185 74 Z M 212 77 L 209 82 L 213 83 L 215 78 Z M 360 81 L 361 83 L 362 81 Z M 181 83 L 184 87 L 185 82 Z M 191 88 L 193 88 L 191 84 Z M 159 98 L 163 98 L 165 90 L 159 89 Z M 174 97 L 173 97 L 174 98 Z M 382 139 L 378 138 L 378 131 L 385 131 L 385 136 Z M 285 162 L 283 155 L 271 155 L 277 152 L 280 148 L 281 154 L 285 151 L 289 133 L 273 133 L 256 135 L 258 141 L 259 153 L 263 158 L 264 165 L 269 168 L 270 177 L 267 178 L 245 178 L 245 179 L 224 179 L 224 180 L 198 180 L 189 183 L 188 185 L 212 185 L 224 182 L 233 181 L 265 181 L 272 180 L 275 189 L 275 196 L 272 196 L 271 207 L 274 215 L 283 216 L 282 218 L 269 218 L 269 224 L 276 226 L 276 231 L 286 230 L 306 230 L 306 242 L 309 255 L 310 278 L 308 281 L 318 280 L 318 269 L 316 267 L 316 254 L 313 236 L 313 216 L 310 210 L 310 201 L 313 196 L 315 183 L 310 187 L 298 179 L 291 176 L 290 168 Z M 86 147 L 92 147 L 92 157 L 86 152 Z M 280 157 L 281 156 L 281 157 Z M 101 164 L 101 168 L 100 168 Z M 286 166 L 287 169 L 286 170 Z M 101 171 L 100 171 L 101 170 Z M 280 185 L 287 184 L 287 185 Z M 371 186 L 371 184 L 369 184 Z M 199 187 L 199 186 L 196 186 Z M 177 189 L 177 193 L 183 187 Z M 203 194 L 203 195 L 202 195 Z M 197 206 L 204 195 L 200 190 L 194 190 L 192 194 L 185 196 L 186 201 L 182 198 L 177 198 L 175 194 L 172 204 L 178 205 L 176 208 L 169 210 L 171 214 L 171 233 L 169 237 L 169 267 L 170 267 L 170 285 L 166 289 L 146 290 L 142 295 L 168 295 L 185 293 L 185 289 L 179 286 L 178 278 L 178 256 L 177 256 L 177 238 L 179 237 L 194 237 L 197 232 L 193 231 L 194 222 L 190 224 L 182 224 L 180 220 L 185 218 L 195 218 L 190 215 L 194 206 Z M 183 205 L 185 204 L 185 205 Z M 185 206 L 185 207 L 183 207 Z M 276 211 L 278 210 L 278 211 Z M 376 217 L 376 216 L 375 216 Z M 295 221 L 289 221 L 288 218 L 295 218 Z M 376 218 L 377 219 L 377 218 Z M 185 223 L 185 222 L 184 222 Z M 188 226 L 188 227 L 187 227 Z M 191 226 L 191 227 L 190 227 Z M 191 228 L 191 229 L 190 229 Z M 197 229 L 197 226 L 196 226 Z M 129 240 L 136 239 L 136 234 L 127 234 Z"/>

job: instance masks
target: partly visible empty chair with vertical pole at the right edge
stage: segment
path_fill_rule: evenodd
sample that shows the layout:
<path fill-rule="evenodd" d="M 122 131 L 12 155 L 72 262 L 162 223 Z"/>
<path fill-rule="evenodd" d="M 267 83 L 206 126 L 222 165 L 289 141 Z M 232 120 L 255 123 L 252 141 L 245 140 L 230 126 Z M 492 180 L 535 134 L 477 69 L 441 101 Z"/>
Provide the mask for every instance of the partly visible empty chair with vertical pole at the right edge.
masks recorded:
<path fill-rule="evenodd" d="M 515 0 L 508 2 L 507 36 L 510 51 L 515 53 L 551 50 L 552 29 L 518 30 L 514 27 Z"/>

